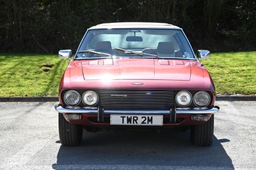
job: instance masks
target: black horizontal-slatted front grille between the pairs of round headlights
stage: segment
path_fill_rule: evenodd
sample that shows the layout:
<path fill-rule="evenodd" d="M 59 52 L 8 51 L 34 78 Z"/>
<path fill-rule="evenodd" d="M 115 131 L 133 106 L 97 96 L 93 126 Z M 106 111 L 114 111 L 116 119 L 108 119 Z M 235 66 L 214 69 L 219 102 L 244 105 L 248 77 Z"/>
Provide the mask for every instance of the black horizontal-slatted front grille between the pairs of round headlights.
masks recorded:
<path fill-rule="evenodd" d="M 174 105 L 173 90 L 100 90 L 104 108 L 166 109 Z"/>

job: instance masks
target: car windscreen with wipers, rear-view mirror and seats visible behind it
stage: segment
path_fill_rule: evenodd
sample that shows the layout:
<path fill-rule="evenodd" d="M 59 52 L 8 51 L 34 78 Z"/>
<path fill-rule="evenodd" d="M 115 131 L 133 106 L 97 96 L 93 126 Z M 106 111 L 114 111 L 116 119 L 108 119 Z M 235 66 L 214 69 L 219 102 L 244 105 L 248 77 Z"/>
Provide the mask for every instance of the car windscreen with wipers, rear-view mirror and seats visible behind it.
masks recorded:
<path fill-rule="evenodd" d="M 179 29 L 92 29 L 86 32 L 75 59 L 109 57 L 195 59 Z"/>

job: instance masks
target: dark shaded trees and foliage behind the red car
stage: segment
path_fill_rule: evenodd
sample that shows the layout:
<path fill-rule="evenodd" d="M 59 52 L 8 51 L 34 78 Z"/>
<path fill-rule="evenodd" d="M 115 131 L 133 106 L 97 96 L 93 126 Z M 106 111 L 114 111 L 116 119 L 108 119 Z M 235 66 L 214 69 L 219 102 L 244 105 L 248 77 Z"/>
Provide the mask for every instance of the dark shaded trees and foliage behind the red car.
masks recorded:
<path fill-rule="evenodd" d="M 166 22 L 184 28 L 195 49 L 255 50 L 256 9 L 249 0 L 2 0 L 0 52 L 76 50 L 103 22 Z"/>

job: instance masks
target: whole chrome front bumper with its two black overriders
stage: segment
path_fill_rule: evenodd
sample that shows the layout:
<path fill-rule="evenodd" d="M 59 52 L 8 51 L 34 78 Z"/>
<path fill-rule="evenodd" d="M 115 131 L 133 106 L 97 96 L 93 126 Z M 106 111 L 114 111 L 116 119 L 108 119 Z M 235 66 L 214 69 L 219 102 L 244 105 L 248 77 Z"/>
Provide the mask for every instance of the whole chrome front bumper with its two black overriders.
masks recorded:
<path fill-rule="evenodd" d="M 104 115 L 170 115 L 170 122 L 175 122 L 176 115 L 191 115 L 191 118 L 198 121 L 207 121 L 205 114 L 214 114 L 220 110 L 218 106 L 207 110 L 177 110 L 175 107 L 170 110 L 105 110 L 101 106 L 86 109 L 70 109 L 56 105 L 58 113 L 88 114 L 97 115 L 99 122 L 104 122 Z"/>

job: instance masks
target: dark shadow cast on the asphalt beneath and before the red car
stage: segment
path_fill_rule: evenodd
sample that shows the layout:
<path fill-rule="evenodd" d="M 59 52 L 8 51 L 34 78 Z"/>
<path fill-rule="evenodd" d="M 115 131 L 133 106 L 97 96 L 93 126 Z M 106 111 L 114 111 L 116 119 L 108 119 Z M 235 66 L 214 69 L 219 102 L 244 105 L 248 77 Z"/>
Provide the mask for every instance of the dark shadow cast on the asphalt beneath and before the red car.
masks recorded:
<path fill-rule="evenodd" d="M 98 132 L 84 133 L 83 143 L 76 147 L 61 146 L 53 169 L 83 169 L 105 166 L 182 166 L 234 169 L 217 139 L 209 147 L 193 146 L 187 132 Z M 60 143 L 60 141 L 57 141 Z M 79 167 L 79 168 L 78 168 Z M 106 168 L 107 169 L 107 168 Z M 118 168 L 117 168 L 118 169 Z"/>

